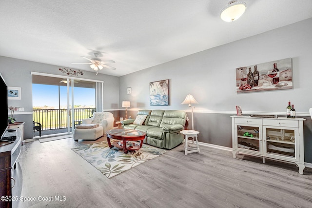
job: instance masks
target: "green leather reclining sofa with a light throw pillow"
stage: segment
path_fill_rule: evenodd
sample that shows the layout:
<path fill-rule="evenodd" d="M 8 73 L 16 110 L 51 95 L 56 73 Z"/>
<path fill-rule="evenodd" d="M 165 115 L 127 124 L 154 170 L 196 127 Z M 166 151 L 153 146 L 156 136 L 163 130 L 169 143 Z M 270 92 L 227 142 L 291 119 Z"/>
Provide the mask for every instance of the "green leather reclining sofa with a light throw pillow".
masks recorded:
<path fill-rule="evenodd" d="M 121 124 L 123 128 L 144 131 L 145 144 L 172 149 L 184 140 L 179 132 L 184 130 L 186 116 L 182 110 L 139 110 L 136 119 L 127 119 Z"/>

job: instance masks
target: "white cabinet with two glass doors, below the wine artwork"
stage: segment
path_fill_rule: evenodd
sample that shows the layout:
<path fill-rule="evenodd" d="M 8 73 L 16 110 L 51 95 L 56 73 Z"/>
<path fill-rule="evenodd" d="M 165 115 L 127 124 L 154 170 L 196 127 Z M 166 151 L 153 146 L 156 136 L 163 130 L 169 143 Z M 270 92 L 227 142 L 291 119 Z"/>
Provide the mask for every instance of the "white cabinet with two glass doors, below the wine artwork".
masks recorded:
<path fill-rule="evenodd" d="M 293 162 L 299 167 L 299 173 L 303 174 L 305 119 L 249 116 L 231 116 L 231 118 L 234 158 L 238 152 L 243 152 L 262 156 L 263 163 L 265 158 Z"/>

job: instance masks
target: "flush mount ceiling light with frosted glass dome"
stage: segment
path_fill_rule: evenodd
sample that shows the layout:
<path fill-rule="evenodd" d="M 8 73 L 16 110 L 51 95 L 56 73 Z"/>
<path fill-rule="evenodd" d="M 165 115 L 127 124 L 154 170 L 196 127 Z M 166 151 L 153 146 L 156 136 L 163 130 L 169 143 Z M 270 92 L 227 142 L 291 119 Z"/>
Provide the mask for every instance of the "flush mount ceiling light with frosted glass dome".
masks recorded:
<path fill-rule="evenodd" d="M 221 10 L 223 21 L 235 21 L 244 14 L 246 3 L 244 1 L 231 0 L 229 4 Z"/>

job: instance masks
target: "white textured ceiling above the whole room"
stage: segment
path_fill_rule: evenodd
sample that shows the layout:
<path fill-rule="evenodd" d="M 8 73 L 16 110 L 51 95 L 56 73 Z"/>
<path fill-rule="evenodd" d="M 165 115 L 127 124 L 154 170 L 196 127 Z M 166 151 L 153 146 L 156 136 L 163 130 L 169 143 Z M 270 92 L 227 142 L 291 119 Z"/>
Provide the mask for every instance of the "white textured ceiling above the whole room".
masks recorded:
<path fill-rule="evenodd" d="M 0 56 L 91 71 L 80 56 L 114 60 L 122 76 L 312 18 L 312 0 L 244 0 L 234 22 L 229 0 L 1 0 Z"/>

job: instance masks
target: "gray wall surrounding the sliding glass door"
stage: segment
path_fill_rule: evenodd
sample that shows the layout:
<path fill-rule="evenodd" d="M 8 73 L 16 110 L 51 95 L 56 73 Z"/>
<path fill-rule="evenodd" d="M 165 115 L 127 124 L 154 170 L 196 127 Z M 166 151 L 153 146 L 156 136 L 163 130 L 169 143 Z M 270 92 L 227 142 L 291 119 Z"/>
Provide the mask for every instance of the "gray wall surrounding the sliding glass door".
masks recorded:
<path fill-rule="evenodd" d="M 21 87 L 21 100 L 8 100 L 8 106 L 24 107 L 25 111 L 16 112 L 19 122 L 25 122 L 25 139 L 33 138 L 33 101 L 32 101 L 32 75 L 31 72 L 40 72 L 66 76 L 59 71 L 61 66 L 30 62 L 0 56 L 0 73 L 8 86 Z M 73 68 L 74 69 L 74 68 Z M 71 78 L 72 76 L 68 76 Z M 99 80 L 104 82 L 103 99 L 104 110 L 119 108 L 119 78 L 85 71 L 84 74 L 75 76 L 77 78 Z M 112 107 L 113 106 L 113 107 Z M 116 109 L 115 109 L 116 110 Z M 118 110 L 119 111 L 119 110 Z M 10 113 L 10 110 L 9 110 Z"/>

